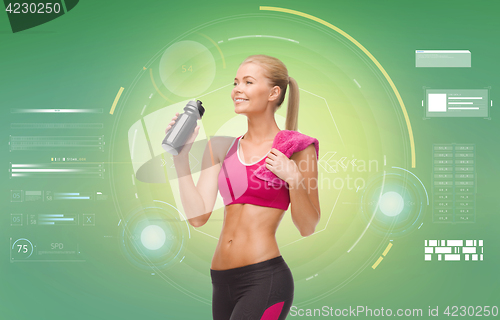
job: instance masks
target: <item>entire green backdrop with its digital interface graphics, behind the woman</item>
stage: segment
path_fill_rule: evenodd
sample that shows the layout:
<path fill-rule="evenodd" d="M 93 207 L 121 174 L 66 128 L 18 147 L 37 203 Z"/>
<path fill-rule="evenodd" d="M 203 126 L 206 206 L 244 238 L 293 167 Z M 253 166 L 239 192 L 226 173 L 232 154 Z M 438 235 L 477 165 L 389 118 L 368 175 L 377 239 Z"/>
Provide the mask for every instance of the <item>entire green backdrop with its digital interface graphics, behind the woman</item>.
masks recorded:
<path fill-rule="evenodd" d="M 320 146 L 320 221 L 304 237 L 289 208 L 275 236 L 294 279 L 287 319 L 498 318 L 500 3 L 4 10 L 0 319 L 212 319 L 223 198 L 193 227 L 162 142 L 202 101 L 196 184 L 207 143 L 248 130 L 231 91 L 254 54 L 287 66 L 297 131 Z"/>

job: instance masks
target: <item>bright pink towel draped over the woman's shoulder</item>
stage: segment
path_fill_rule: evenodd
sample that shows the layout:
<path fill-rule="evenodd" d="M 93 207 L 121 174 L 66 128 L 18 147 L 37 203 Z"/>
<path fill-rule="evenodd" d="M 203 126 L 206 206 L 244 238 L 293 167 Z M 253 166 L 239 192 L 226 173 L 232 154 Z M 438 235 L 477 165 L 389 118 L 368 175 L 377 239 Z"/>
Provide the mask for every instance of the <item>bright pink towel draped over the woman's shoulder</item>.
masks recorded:
<path fill-rule="evenodd" d="M 281 130 L 276 134 L 273 141 L 273 148 L 281 151 L 285 156 L 290 158 L 294 152 L 299 152 L 304 150 L 311 143 L 314 143 L 316 148 L 316 159 L 319 158 L 319 141 L 316 138 L 306 136 L 298 131 L 292 130 Z M 272 173 L 266 164 L 264 163 L 258 167 L 254 174 L 257 178 L 261 180 L 268 181 L 268 184 L 274 186 L 281 186 L 286 182 L 278 178 L 274 173 Z"/>

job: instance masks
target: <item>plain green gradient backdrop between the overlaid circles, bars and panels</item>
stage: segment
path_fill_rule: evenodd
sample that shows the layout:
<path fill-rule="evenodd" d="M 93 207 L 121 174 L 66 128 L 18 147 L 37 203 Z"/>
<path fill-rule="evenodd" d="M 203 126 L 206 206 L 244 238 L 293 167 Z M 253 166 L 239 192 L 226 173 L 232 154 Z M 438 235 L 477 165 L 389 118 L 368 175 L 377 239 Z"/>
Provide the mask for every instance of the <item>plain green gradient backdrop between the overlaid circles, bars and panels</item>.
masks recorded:
<path fill-rule="evenodd" d="M 411 167 L 408 133 L 394 94 L 387 90 L 380 72 L 352 45 L 310 20 L 285 13 L 259 12 L 259 6 L 284 7 L 321 18 L 361 43 L 384 67 L 396 85 L 411 120 L 416 149 L 416 168 Z M 446 306 L 493 306 L 500 304 L 498 287 L 499 252 L 497 200 L 499 169 L 498 136 L 500 126 L 495 108 L 498 88 L 497 13 L 493 1 L 256 1 L 208 2 L 189 4 L 166 1 L 81 1 L 71 12 L 44 25 L 13 34 L 7 15 L 0 15 L 2 130 L 2 223 L 1 297 L 2 319 L 210 319 L 211 283 L 209 267 L 215 241 L 192 230 L 186 245 L 186 260 L 177 268 L 162 271 L 171 280 L 136 268 L 123 254 L 117 223 L 133 211 L 148 206 L 153 199 L 171 202 L 168 184 L 137 181 L 131 191 L 132 173 L 127 133 L 140 118 L 142 102 L 151 89 L 151 67 L 157 84 L 158 53 L 180 40 L 203 41 L 201 32 L 216 42 L 247 34 L 280 34 L 301 39 L 299 48 L 288 43 L 234 42 L 220 45 L 227 66 L 221 69 L 217 50 L 204 42 L 217 64 L 214 83 L 207 92 L 229 84 L 238 64 L 248 55 L 266 53 L 278 56 L 287 65 L 299 87 L 324 96 L 332 106 L 344 145 L 339 143 L 331 121 L 318 100 L 301 92 L 299 130 L 320 141 L 320 158 L 338 151 L 350 159 L 377 159 L 387 155 L 392 166 L 410 170 L 427 191 L 431 187 L 432 144 L 475 144 L 477 195 L 476 222 L 472 224 L 432 223 L 431 206 L 425 206 L 423 225 L 406 236 L 390 237 L 368 230 L 351 258 L 346 249 L 366 227 L 359 206 L 360 194 L 342 191 L 332 211 L 338 190 L 320 191 L 321 233 L 300 241 L 296 246 L 280 248 L 296 281 L 293 305 L 299 308 L 372 309 L 421 308 L 439 306 L 440 317 Z M 239 20 L 234 19 L 239 17 Z M 288 31 L 286 31 L 288 28 Z M 339 45 L 343 43 L 342 45 Z M 416 49 L 467 49 L 472 53 L 472 68 L 415 68 Z M 335 51 L 338 50 L 338 51 Z M 350 52 L 350 53 L 349 53 Z M 156 58 L 153 58 L 156 57 Z M 156 60 L 155 60 L 156 59 Z M 358 61 L 359 59 L 359 61 Z M 359 63 L 359 69 L 356 67 Z M 351 74 L 362 83 L 363 94 L 349 81 Z M 147 71 L 146 71 L 147 72 Z M 137 85 L 135 79 L 139 78 Z M 491 86 L 494 101 L 491 119 L 423 119 L 422 87 L 484 88 Z M 113 115 L 109 109 L 120 87 L 124 93 Z M 173 102 L 187 97 L 160 91 Z M 234 112 L 229 99 L 230 87 L 202 99 L 207 106 L 206 135 L 229 121 Z M 385 94 L 380 94 L 385 92 Z M 225 100 L 224 100 L 225 99 Z M 168 103 L 155 95 L 149 108 L 160 110 Z M 209 107 L 210 106 L 210 107 Z M 227 109 L 227 108 L 229 109 Z M 11 108 L 100 108 L 102 114 L 60 115 L 57 118 L 31 114 L 26 118 L 10 113 Z M 134 110 L 134 108 L 136 108 Z M 209 109 L 210 108 L 210 109 Z M 286 105 L 279 114 L 284 116 Z M 152 111 L 151 110 L 151 111 Z M 210 112 L 211 111 L 211 112 Z M 22 119 L 22 121 L 20 120 Z M 54 120 L 56 119 L 56 120 Z M 165 119 L 168 123 L 169 118 Z M 72 150 L 67 156 L 86 157 L 107 164 L 101 180 L 9 179 L 9 162 L 49 162 L 57 152 L 9 152 L 9 135 L 47 134 L 41 131 L 20 133 L 10 129 L 12 122 L 100 122 L 104 152 Z M 159 120 L 161 121 L 161 119 Z M 282 128 L 284 129 L 284 128 Z M 54 134 L 75 134 L 65 131 Z M 243 134 L 235 132 L 234 135 Z M 78 134 L 78 133 L 76 133 Z M 75 135 L 76 135 L 75 134 Z M 88 131 L 81 132 L 89 134 Z M 162 136 L 161 132 L 158 133 Z M 151 138 L 151 137 L 150 137 Z M 352 155 L 352 156 L 351 156 Z M 385 169 L 384 169 L 385 170 Z M 379 170 L 382 171 L 382 170 Z M 345 176 L 345 172 L 339 176 Z M 375 174 L 374 174 L 375 175 Z M 370 179 L 372 173 L 359 175 Z M 103 190 L 108 201 L 73 207 L 70 203 L 11 203 L 10 190 Z M 140 197 L 134 199 L 137 192 Z M 332 196 L 333 195 L 333 196 Z M 431 196 L 431 195 L 429 195 Z M 10 226 L 11 213 L 50 212 L 95 213 L 96 226 L 41 229 Z M 332 212 L 332 214 L 331 214 Z M 217 236 L 221 210 L 214 212 L 210 224 L 202 227 Z M 331 216 L 327 225 L 326 218 Z M 413 228 L 415 229 L 415 228 Z M 277 233 L 283 245 L 298 239 L 290 214 Z M 107 237 L 105 237 L 107 236 Z M 30 238 L 38 243 L 78 242 L 85 262 L 9 263 L 10 238 Z M 424 261 L 424 240 L 483 239 L 484 261 Z M 393 247 L 376 269 L 371 266 L 390 240 Z M 435 257 L 433 257 L 435 259 Z M 185 264 L 186 267 L 183 267 Z M 155 270 L 152 270 L 153 272 Z M 183 273 L 184 272 L 184 273 Z M 307 277 L 318 274 L 312 280 Z M 187 288 L 187 289 L 181 289 Z M 394 311 L 395 312 L 395 311 Z M 292 318 L 289 315 L 289 318 Z M 319 316 L 318 316 L 319 318 Z"/>

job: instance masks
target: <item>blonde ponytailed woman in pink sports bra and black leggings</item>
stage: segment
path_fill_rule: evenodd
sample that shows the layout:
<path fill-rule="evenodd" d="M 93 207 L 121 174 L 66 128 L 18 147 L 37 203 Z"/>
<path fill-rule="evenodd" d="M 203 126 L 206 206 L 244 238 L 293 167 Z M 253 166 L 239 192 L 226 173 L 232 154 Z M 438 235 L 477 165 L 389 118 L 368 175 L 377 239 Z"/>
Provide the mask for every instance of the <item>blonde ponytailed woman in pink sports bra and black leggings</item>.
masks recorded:
<path fill-rule="evenodd" d="M 224 199 L 224 222 L 210 269 L 214 320 L 285 319 L 294 283 L 280 254 L 276 230 L 290 204 L 292 220 L 302 236 L 311 235 L 320 219 L 314 145 L 290 158 L 272 148 L 281 131 L 274 114 L 287 86 L 285 130 L 297 131 L 296 81 L 280 60 L 265 55 L 248 57 L 236 73 L 231 92 L 234 112 L 247 117 L 248 131 L 235 139 L 213 137 L 209 141 L 197 185 L 191 177 L 188 155 L 199 126 L 174 156 L 182 204 L 193 227 L 208 221 L 218 190 Z M 261 165 L 286 183 L 270 187 L 257 178 L 252 173 Z"/>

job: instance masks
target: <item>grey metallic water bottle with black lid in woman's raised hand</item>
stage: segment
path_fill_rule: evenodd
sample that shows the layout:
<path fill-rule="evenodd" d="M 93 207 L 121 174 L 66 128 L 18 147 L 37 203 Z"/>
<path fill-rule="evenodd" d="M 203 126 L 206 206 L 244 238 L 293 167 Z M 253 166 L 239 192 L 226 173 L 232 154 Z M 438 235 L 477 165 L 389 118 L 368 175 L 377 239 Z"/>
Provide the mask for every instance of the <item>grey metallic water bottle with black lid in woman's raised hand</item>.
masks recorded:
<path fill-rule="evenodd" d="M 184 112 L 179 115 L 163 139 L 163 149 L 174 156 L 178 155 L 193 134 L 196 122 L 203 117 L 204 113 L 205 108 L 201 105 L 200 100 L 189 101 L 184 107 Z"/>

